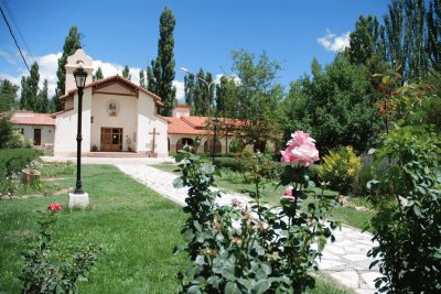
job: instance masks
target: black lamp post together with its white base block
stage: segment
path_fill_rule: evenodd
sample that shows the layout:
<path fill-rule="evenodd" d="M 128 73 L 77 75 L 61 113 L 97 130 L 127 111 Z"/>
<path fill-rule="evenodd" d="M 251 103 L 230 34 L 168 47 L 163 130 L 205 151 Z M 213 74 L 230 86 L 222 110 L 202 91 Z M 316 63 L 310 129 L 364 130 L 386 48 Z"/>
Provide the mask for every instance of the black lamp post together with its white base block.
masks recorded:
<path fill-rule="evenodd" d="M 84 193 L 82 186 L 82 118 L 83 118 L 83 89 L 86 85 L 87 73 L 83 67 L 78 67 L 74 72 L 76 87 L 78 89 L 78 122 L 76 135 L 76 187 L 73 194 L 69 194 L 68 207 L 88 206 L 88 195 Z"/>

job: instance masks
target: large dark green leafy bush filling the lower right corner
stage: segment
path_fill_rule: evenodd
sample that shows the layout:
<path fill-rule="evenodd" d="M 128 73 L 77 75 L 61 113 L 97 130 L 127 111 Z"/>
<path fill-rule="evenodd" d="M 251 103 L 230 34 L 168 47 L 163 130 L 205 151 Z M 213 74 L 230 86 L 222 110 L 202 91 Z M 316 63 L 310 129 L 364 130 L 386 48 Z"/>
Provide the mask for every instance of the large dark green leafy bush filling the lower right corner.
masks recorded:
<path fill-rule="evenodd" d="M 369 184 L 396 199 L 372 220 L 379 292 L 441 293 L 440 150 L 439 133 L 409 126 L 390 131 L 376 153 L 377 165 L 394 164 Z"/>

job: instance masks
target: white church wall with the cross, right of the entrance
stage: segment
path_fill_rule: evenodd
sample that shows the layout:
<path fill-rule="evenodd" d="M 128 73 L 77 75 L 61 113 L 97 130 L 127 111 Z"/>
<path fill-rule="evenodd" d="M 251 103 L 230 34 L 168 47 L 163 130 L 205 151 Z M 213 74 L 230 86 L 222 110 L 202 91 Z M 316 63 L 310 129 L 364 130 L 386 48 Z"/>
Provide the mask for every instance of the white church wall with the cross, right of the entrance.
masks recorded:
<path fill-rule="evenodd" d="M 155 149 L 154 152 L 159 157 L 165 157 L 169 155 L 168 151 L 168 122 L 154 115 L 155 105 L 151 97 L 144 92 L 139 94 L 138 100 L 138 152 L 152 151 L 153 128 L 155 128 L 157 134 L 154 139 Z"/>

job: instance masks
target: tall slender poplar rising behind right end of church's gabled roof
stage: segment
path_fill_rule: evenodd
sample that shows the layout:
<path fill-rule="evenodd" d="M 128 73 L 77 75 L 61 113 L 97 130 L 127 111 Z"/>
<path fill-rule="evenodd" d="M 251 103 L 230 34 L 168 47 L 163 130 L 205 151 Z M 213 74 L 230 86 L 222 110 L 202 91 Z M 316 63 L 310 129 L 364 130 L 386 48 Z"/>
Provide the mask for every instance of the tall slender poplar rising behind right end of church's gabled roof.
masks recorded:
<path fill-rule="evenodd" d="M 174 36 L 173 30 L 176 24 L 171 9 L 165 8 L 160 18 L 158 41 L 158 56 L 152 67 L 157 84 L 155 94 L 161 97 L 163 107 L 160 113 L 162 116 L 171 116 L 176 96 L 176 88 L 173 86 L 174 80 Z"/>

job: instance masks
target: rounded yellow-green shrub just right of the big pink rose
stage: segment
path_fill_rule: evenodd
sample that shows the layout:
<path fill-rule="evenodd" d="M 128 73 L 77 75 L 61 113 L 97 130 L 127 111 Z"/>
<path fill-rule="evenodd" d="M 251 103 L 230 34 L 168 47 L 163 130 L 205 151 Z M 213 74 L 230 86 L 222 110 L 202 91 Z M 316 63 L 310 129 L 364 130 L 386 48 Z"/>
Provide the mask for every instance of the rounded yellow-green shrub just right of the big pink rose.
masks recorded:
<path fill-rule="evenodd" d="M 352 186 L 362 170 L 362 161 L 354 153 L 352 146 L 342 146 L 323 157 L 323 163 L 319 167 L 321 181 L 330 182 L 332 189 L 342 194 L 352 190 Z"/>

